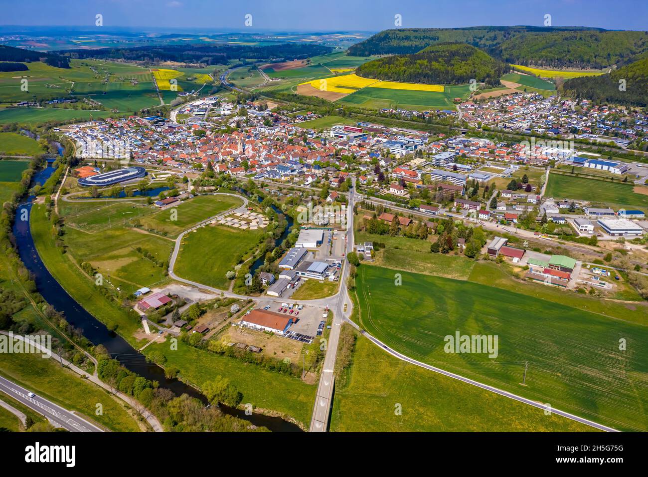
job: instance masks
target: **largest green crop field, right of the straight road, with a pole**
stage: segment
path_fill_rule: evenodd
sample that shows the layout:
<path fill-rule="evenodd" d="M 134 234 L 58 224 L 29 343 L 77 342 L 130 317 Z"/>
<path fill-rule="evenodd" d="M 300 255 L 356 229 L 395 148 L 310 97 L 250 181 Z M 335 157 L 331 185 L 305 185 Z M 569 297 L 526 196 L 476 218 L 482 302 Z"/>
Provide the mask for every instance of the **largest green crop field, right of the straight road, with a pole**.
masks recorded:
<path fill-rule="evenodd" d="M 639 391 L 648 376 L 645 313 L 634 322 L 612 319 L 603 310 L 406 272 L 395 286 L 393 270 L 372 266 L 358 269 L 356 290 L 361 326 L 411 358 L 619 430 L 648 430 L 648 395 Z M 457 330 L 498 336 L 497 358 L 446 353 L 444 338 Z"/>

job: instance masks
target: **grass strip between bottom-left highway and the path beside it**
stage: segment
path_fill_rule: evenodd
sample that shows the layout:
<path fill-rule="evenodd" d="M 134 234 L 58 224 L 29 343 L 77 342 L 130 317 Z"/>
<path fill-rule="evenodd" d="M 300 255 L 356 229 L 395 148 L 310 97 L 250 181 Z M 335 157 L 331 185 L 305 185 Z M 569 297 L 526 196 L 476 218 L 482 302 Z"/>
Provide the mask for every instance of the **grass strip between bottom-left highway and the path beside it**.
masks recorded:
<path fill-rule="evenodd" d="M 0 361 L 0 374 L 67 410 L 82 413 L 90 421 L 110 430 L 139 431 L 137 422 L 121 402 L 117 402 L 101 387 L 62 368 L 54 358 L 45 360 L 40 354 L 5 354 Z M 102 404 L 103 415 L 95 415 L 97 404 Z"/>

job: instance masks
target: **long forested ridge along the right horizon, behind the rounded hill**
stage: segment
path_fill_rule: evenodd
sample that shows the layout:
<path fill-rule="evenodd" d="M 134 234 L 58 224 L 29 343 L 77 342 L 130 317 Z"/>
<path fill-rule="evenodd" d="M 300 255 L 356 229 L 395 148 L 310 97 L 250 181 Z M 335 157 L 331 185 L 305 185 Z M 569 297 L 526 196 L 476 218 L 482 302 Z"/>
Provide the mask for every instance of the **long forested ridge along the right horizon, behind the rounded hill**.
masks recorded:
<path fill-rule="evenodd" d="M 648 51 L 648 32 L 585 27 L 394 29 L 351 46 L 349 55 L 403 55 L 443 42 L 468 43 L 513 64 L 599 69 Z"/>

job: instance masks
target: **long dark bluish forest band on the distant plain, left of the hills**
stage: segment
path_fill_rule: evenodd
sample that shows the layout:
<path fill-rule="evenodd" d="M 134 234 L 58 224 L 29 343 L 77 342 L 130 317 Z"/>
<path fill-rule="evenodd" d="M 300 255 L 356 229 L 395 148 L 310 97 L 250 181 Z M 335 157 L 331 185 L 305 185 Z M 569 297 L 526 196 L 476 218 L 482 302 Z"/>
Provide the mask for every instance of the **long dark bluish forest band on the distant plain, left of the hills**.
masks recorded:
<path fill-rule="evenodd" d="M 165 45 L 134 48 L 102 48 L 68 50 L 62 54 L 71 58 L 121 58 L 128 61 L 226 64 L 229 60 L 299 60 L 309 56 L 325 55 L 331 47 L 284 43 L 281 45 Z"/>

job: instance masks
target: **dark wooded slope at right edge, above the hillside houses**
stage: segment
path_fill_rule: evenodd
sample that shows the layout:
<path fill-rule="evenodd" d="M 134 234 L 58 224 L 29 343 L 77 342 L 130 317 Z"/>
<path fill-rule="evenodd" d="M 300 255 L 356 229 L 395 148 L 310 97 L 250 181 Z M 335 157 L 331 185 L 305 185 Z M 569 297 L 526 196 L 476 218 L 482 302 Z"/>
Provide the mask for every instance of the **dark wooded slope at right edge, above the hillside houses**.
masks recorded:
<path fill-rule="evenodd" d="M 648 106 L 648 54 L 608 75 L 566 80 L 562 92 L 596 103 Z"/>

